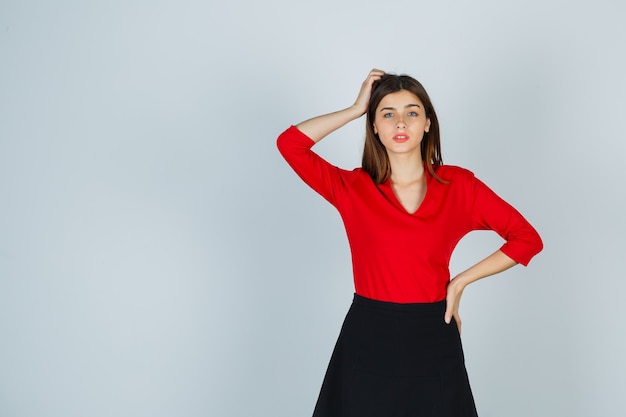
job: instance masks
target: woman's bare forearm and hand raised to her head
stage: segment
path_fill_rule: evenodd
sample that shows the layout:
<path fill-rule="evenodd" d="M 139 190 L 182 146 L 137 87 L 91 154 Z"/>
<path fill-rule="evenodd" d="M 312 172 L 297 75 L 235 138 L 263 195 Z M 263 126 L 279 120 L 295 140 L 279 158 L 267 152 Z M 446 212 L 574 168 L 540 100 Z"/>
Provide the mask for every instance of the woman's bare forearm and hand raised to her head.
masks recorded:
<path fill-rule="evenodd" d="M 334 113 L 314 117 L 297 124 L 296 127 L 317 143 L 324 139 L 329 133 L 363 116 L 367 111 L 367 105 L 372 92 L 372 84 L 374 81 L 380 80 L 380 77 L 384 74 L 385 72 L 381 70 L 371 70 L 365 81 L 363 81 L 359 95 L 352 106 Z"/>

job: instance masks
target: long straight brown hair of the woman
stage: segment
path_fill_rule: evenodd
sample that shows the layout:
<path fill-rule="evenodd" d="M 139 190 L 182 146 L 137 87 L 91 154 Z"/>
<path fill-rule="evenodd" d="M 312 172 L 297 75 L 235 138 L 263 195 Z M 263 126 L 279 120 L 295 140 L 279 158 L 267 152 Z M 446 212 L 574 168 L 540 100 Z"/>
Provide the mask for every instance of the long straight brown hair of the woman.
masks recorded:
<path fill-rule="evenodd" d="M 424 105 L 426 118 L 430 119 L 430 129 L 424 133 L 420 148 L 422 159 L 426 163 L 428 172 L 439 182 L 445 183 L 437 176 L 435 170 L 443 164 L 441 157 L 441 144 L 439 142 L 439 121 L 437 113 L 433 107 L 430 97 L 424 86 L 415 78 L 408 75 L 385 74 L 372 86 L 372 94 L 367 108 L 367 119 L 365 123 L 365 147 L 363 148 L 363 169 L 370 174 L 376 184 L 381 184 L 391 176 L 391 165 L 387 150 L 383 146 L 380 138 L 374 133 L 374 118 L 376 108 L 380 101 L 387 94 L 406 90 L 417 96 Z"/>

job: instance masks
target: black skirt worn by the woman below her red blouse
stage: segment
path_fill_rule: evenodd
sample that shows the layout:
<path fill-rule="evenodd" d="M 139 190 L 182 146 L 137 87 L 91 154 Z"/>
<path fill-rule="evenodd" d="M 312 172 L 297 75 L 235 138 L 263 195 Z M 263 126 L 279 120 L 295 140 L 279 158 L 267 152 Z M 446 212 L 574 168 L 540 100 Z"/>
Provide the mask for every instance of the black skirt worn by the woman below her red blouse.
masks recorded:
<path fill-rule="evenodd" d="M 445 301 L 359 295 L 348 311 L 313 417 L 477 417 L 461 338 Z"/>

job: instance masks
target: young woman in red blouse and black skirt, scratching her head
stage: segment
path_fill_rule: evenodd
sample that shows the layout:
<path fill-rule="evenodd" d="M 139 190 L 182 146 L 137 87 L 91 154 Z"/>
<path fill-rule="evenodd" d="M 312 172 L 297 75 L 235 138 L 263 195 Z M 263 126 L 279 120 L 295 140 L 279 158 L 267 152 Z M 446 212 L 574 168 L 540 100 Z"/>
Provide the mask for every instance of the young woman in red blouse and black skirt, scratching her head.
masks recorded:
<path fill-rule="evenodd" d="M 311 148 L 367 114 L 363 166 L 337 168 Z M 465 287 L 542 249 L 535 229 L 463 168 L 443 165 L 439 124 L 422 85 L 372 70 L 356 102 L 292 126 L 278 148 L 339 211 L 355 295 L 314 417 L 476 416 L 461 347 Z M 505 243 L 450 280 L 448 264 L 472 230 Z"/>

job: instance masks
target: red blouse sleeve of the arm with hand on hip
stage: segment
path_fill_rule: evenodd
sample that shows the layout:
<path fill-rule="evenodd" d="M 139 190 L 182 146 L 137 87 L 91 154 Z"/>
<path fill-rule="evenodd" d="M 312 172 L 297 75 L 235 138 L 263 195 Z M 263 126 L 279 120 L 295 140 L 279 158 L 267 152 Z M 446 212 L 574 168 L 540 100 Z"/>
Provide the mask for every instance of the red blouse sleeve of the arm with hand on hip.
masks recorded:
<path fill-rule="evenodd" d="M 506 240 L 500 248 L 526 266 L 543 249 L 541 237 L 510 204 L 474 177 L 472 223 L 476 230 L 493 230 Z"/>

